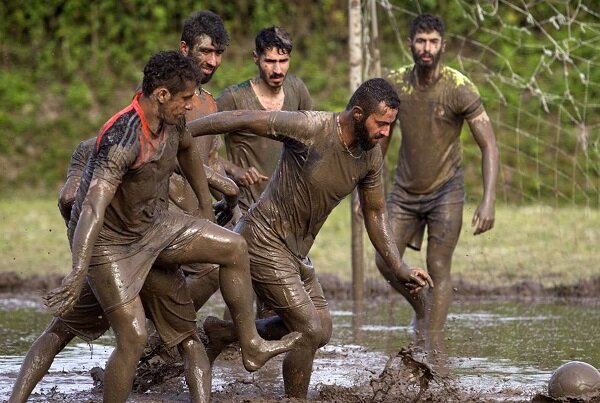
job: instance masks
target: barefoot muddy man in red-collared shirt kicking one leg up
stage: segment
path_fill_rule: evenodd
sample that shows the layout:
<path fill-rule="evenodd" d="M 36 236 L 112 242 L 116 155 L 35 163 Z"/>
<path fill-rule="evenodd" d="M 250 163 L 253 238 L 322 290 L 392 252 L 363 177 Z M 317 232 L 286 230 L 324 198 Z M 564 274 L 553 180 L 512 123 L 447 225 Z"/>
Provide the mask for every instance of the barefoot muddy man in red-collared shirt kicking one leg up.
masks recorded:
<path fill-rule="evenodd" d="M 298 337 L 273 344 L 258 336 L 241 237 L 166 208 L 176 163 L 202 197 L 205 178 L 183 120 L 199 81 L 197 66 L 180 53 L 154 55 L 144 69 L 142 92 L 101 129 L 79 186 L 69 223 L 73 270 L 48 304 L 58 306 L 57 315 L 68 312 L 86 281 L 100 302 L 117 344 L 106 365 L 105 402 L 124 402 L 131 391 L 147 339 L 139 292 L 153 264 L 165 270 L 199 261 L 221 265 L 221 289 L 240 332 L 246 369 L 289 350 Z M 195 321 L 191 301 L 179 313 Z M 25 400 L 16 393 L 11 401 Z"/>

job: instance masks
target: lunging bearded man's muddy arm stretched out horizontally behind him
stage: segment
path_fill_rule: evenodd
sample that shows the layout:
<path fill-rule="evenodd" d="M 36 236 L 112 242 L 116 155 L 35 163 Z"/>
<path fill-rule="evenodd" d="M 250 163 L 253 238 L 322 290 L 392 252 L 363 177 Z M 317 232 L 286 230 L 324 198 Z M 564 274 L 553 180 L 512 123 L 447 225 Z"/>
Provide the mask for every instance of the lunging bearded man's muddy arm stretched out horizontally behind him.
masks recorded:
<path fill-rule="evenodd" d="M 188 129 L 192 136 L 245 130 L 277 141 L 308 143 L 316 124 L 311 116 L 316 115 L 306 111 L 225 111 L 192 120 Z"/>

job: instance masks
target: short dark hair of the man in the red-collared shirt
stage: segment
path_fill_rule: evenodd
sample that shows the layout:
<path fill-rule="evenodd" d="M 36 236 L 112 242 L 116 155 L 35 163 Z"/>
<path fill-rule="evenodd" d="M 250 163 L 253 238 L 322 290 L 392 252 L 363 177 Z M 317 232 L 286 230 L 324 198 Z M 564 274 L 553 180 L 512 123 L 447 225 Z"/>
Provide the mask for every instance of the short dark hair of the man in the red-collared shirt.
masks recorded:
<path fill-rule="evenodd" d="M 202 73 L 192 59 L 174 50 L 158 52 L 144 67 L 142 93 L 150 96 L 156 88 L 165 86 L 175 95 L 183 91 L 189 82 L 198 87 L 201 78 Z"/>

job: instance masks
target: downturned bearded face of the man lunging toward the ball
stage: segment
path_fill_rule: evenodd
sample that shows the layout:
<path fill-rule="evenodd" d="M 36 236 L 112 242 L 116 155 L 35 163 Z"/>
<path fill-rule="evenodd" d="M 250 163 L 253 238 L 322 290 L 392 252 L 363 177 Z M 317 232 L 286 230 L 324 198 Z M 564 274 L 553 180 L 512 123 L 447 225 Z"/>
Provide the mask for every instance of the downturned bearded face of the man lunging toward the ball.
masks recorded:
<path fill-rule="evenodd" d="M 379 140 L 390 135 L 397 115 L 397 109 L 391 109 L 385 105 L 385 102 L 381 102 L 376 112 L 366 118 L 355 120 L 354 133 L 358 145 L 365 151 L 375 147 Z"/>

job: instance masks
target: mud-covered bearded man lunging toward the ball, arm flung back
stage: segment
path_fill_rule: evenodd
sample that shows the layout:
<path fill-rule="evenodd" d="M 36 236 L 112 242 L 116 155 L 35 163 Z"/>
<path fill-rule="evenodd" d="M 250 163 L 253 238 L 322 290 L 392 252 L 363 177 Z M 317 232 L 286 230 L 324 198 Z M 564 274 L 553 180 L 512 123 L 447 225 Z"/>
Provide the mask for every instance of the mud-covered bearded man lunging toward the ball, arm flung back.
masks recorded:
<path fill-rule="evenodd" d="M 372 79 L 340 113 L 316 111 L 219 112 L 188 123 L 193 136 L 244 130 L 283 143 L 265 192 L 235 227 L 248 243 L 258 297 L 277 316 L 257 321 L 265 338 L 290 331 L 302 338 L 283 361 L 285 394 L 305 399 L 315 353 L 331 337 L 327 301 L 307 254 L 325 220 L 355 188 L 375 249 L 413 292 L 433 283 L 422 269 L 408 267 L 385 219 L 383 159 L 379 140 L 390 133 L 399 100 L 385 80 Z M 204 326 L 208 349 L 236 339 L 232 326 L 216 318 Z"/>

